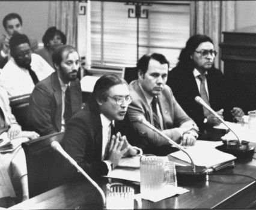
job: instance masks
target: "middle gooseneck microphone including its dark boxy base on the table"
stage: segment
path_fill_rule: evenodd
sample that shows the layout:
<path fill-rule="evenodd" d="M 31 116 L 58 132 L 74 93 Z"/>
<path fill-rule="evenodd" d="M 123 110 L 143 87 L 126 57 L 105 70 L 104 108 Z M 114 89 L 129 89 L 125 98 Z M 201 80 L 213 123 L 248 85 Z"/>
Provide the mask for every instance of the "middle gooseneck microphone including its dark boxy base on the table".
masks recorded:
<path fill-rule="evenodd" d="M 187 153 L 186 150 L 184 150 L 183 147 L 181 147 L 175 141 L 165 135 L 165 133 L 152 126 L 144 117 L 138 117 L 136 121 L 138 121 L 138 123 L 144 124 L 149 129 L 158 133 L 160 136 L 163 136 L 163 138 L 167 139 L 171 145 L 174 145 L 178 148 L 178 150 L 183 151 L 183 153 L 185 153 L 189 157 L 191 166 L 175 166 L 178 181 L 185 183 L 187 181 L 191 182 L 206 179 L 207 168 L 204 166 L 196 166 L 190 155 Z M 189 178 L 187 177 L 187 175 L 189 175 Z"/>

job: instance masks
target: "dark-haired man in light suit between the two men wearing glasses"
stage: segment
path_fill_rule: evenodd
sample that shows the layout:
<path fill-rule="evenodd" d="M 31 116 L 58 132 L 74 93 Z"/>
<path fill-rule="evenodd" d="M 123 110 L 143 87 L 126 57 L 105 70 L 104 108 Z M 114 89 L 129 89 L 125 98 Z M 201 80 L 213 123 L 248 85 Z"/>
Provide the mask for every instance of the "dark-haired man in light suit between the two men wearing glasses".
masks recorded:
<path fill-rule="evenodd" d="M 132 103 L 128 108 L 129 121 L 135 132 L 134 145 L 144 153 L 165 155 L 172 151 L 169 142 L 138 122 L 145 118 L 151 125 L 162 130 L 169 138 L 181 145 L 194 145 L 198 137 L 198 127 L 187 116 L 165 86 L 169 62 L 162 54 L 145 54 L 137 63 L 138 79 L 129 84 Z"/>

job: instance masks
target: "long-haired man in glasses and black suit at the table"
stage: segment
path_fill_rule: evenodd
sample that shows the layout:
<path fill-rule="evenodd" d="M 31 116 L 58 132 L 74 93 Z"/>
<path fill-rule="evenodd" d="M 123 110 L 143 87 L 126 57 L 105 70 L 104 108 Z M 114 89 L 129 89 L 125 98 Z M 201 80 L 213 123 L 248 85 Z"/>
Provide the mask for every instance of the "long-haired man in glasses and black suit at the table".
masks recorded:
<path fill-rule="evenodd" d="M 225 116 L 225 119 L 231 120 L 244 115 L 243 110 L 232 101 L 230 93 L 227 94 L 224 75 L 215 68 L 216 54 L 209 36 L 191 36 L 180 53 L 177 66 L 169 72 L 166 83 L 171 87 L 178 104 L 197 123 L 201 139 L 211 139 L 210 131 L 220 121 L 195 102 L 196 96 L 201 96 L 222 118 Z"/>

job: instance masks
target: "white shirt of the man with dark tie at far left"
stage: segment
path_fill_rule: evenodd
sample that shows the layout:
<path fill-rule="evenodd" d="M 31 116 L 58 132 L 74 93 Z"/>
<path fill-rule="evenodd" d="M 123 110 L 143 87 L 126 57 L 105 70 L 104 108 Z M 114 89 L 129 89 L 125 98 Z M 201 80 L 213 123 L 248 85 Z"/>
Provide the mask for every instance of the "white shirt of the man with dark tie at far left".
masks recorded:
<path fill-rule="evenodd" d="M 48 77 L 55 70 L 38 54 L 31 54 L 31 69 L 39 81 Z M 0 86 L 8 92 L 8 96 L 19 96 L 32 93 L 35 85 L 29 72 L 17 65 L 13 57 L 0 70 Z"/>

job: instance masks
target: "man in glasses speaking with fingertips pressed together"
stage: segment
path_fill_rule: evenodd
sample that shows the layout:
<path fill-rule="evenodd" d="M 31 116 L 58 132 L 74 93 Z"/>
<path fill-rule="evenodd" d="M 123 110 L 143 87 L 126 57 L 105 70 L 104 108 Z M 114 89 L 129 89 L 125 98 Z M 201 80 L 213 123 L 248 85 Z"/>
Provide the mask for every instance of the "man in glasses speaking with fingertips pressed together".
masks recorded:
<path fill-rule="evenodd" d="M 93 93 L 85 107 L 78 111 L 67 124 L 62 139 L 64 150 L 84 169 L 96 178 L 108 173 L 125 155 L 142 154 L 132 147 L 124 134 L 124 127 L 116 121 L 124 119 L 132 101 L 126 81 L 117 75 L 103 75 L 97 80 Z M 69 170 L 68 170 L 69 171 Z M 75 168 L 72 179 L 78 177 Z"/>

